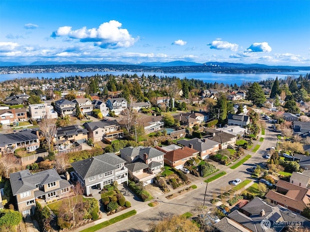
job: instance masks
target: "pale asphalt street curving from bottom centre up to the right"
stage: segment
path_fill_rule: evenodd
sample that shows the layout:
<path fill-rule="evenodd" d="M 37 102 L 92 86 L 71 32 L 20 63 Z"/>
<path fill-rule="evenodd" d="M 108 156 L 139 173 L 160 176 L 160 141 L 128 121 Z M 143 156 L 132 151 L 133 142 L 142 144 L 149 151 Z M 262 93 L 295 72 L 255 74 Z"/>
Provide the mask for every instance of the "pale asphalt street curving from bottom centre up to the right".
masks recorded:
<path fill-rule="evenodd" d="M 263 136 L 264 140 L 255 154 L 251 152 L 249 153 L 252 157 L 248 159 L 247 162 L 235 170 L 227 169 L 227 167 L 225 167 L 227 174 L 208 184 L 205 201 L 208 207 L 212 207 L 210 200 L 214 193 L 219 195 L 221 189 L 225 189 L 226 187 L 231 188 L 232 186 L 229 186 L 228 183 L 236 178 L 240 178 L 242 181 L 250 178 L 248 170 L 251 167 L 256 166 L 256 164 L 266 161 L 266 159 L 263 158 L 263 155 L 266 154 L 266 150 L 271 146 L 275 146 L 277 143 L 277 137 L 275 136 L 277 133 L 271 132 L 269 126 L 271 126 L 271 124 L 266 122 L 265 135 Z M 197 189 L 172 200 L 167 200 L 165 197 L 159 197 L 159 199 L 156 199 L 160 203 L 158 206 L 149 208 L 144 212 L 139 212 L 138 209 L 137 215 L 101 229 L 99 232 L 142 232 L 147 231 L 152 222 L 156 223 L 163 217 L 169 215 L 179 215 L 188 211 L 193 212 L 193 215 L 195 215 L 195 207 L 203 204 L 206 183 L 202 182 L 195 184 L 198 186 Z"/>

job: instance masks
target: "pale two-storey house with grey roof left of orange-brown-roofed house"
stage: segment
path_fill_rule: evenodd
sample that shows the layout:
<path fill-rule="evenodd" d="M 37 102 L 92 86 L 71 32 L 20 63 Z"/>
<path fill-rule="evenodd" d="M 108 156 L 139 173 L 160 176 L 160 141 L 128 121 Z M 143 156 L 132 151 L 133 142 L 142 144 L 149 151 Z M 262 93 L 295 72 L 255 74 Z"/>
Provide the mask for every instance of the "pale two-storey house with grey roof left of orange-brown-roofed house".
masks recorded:
<path fill-rule="evenodd" d="M 154 177 L 164 167 L 165 153 L 153 147 L 125 147 L 121 149 L 121 157 L 127 162 L 128 172 L 143 185 L 153 183 Z"/>

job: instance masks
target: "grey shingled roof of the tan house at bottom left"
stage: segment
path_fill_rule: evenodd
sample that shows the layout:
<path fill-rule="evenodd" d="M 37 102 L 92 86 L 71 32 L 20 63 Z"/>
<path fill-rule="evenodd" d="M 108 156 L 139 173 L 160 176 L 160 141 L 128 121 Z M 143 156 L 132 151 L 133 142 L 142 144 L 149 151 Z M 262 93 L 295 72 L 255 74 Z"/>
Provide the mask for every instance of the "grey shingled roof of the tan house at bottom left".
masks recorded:
<path fill-rule="evenodd" d="M 34 174 L 31 174 L 27 169 L 10 174 L 10 182 L 14 196 L 35 189 L 36 184 L 41 183 L 41 185 L 46 185 L 59 180 L 61 180 L 61 177 L 54 169 L 44 170 Z"/>

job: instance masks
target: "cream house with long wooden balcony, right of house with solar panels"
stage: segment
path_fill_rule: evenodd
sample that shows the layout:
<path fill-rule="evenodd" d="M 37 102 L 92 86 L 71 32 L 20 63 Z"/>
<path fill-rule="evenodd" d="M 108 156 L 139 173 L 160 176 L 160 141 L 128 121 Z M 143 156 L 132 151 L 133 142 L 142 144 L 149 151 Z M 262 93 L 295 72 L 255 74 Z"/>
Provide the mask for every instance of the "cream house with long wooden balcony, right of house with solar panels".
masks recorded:
<path fill-rule="evenodd" d="M 124 136 L 124 131 L 116 120 L 84 123 L 88 138 L 94 142 L 104 139 L 115 140 Z"/>

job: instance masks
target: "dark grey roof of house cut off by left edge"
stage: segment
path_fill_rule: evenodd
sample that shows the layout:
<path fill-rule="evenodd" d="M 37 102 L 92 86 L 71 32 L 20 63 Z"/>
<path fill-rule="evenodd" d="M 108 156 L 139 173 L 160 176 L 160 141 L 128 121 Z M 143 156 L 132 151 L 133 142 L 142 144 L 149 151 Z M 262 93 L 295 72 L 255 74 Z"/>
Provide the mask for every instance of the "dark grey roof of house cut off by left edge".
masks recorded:
<path fill-rule="evenodd" d="M 36 130 L 23 130 L 11 134 L 0 134 L 0 146 L 4 147 L 5 144 L 29 141 L 33 139 L 38 139 Z"/>

